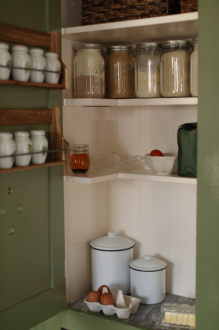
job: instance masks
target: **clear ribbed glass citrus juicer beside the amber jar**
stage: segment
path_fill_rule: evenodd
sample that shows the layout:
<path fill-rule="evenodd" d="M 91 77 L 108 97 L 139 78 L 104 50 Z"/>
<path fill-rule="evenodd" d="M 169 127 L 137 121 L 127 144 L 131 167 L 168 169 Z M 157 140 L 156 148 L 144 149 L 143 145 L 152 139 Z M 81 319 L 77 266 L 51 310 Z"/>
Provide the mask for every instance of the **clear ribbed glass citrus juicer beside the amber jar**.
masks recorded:
<path fill-rule="evenodd" d="M 111 152 L 106 156 L 90 157 L 92 166 L 103 172 L 126 172 L 134 169 L 140 161 L 141 156 L 118 156 L 116 152 Z"/>

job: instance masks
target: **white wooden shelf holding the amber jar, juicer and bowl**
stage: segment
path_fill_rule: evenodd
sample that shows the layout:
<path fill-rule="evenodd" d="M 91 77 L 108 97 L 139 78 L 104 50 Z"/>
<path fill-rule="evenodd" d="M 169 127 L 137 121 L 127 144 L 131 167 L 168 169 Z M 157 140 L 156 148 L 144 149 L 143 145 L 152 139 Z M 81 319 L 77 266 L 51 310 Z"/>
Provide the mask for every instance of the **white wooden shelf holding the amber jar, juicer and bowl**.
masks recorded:
<path fill-rule="evenodd" d="M 74 174 L 71 171 L 64 172 L 64 181 L 66 182 L 96 183 L 114 179 L 197 184 L 196 178 L 184 178 L 178 176 L 178 174 L 157 175 L 151 170 L 145 168 L 135 168 L 134 170 L 121 173 L 101 172 L 96 171 L 93 168 L 90 168 L 86 174 Z"/>

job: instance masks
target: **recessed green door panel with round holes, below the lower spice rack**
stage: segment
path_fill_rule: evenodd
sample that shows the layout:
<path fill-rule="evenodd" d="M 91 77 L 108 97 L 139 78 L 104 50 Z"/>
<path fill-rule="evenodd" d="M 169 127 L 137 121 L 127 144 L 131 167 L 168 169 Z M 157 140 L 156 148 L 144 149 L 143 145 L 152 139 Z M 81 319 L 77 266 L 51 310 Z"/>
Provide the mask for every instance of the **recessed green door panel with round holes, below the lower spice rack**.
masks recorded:
<path fill-rule="evenodd" d="M 2 175 L 0 208 L 5 210 L 0 217 L 0 310 L 5 310 L 51 288 L 48 168 Z"/>

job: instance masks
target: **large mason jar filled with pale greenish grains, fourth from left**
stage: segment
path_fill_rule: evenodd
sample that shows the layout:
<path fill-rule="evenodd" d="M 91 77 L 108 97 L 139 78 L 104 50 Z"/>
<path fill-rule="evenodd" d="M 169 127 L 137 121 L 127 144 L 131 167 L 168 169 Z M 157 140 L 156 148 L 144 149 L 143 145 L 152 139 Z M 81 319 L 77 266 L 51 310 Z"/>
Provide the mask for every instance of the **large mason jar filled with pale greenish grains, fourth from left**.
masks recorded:
<path fill-rule="evenodd" d="M 162 43 L 160 59 L 161 95 L 163 97 L 189 97 L 190 50 L 189 40 L 171 40 Z"/>

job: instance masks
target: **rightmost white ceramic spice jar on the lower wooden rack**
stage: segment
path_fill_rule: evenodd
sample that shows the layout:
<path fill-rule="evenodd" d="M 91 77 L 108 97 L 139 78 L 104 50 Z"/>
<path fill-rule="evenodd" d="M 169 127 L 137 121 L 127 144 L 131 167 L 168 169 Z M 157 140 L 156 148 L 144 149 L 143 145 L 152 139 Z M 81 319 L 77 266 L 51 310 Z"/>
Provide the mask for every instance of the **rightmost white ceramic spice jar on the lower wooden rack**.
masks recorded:
<path fill-rule="evenodd" d="M 45 137 L 45 131 L 35 130 L 30 131 L 30 138 L 33 143 L 33 152 L 43 151 L 32 155 L 31 162 L 33 164 L 43 164 L 46 161 L 48 150 L 48 140 Z"/>

